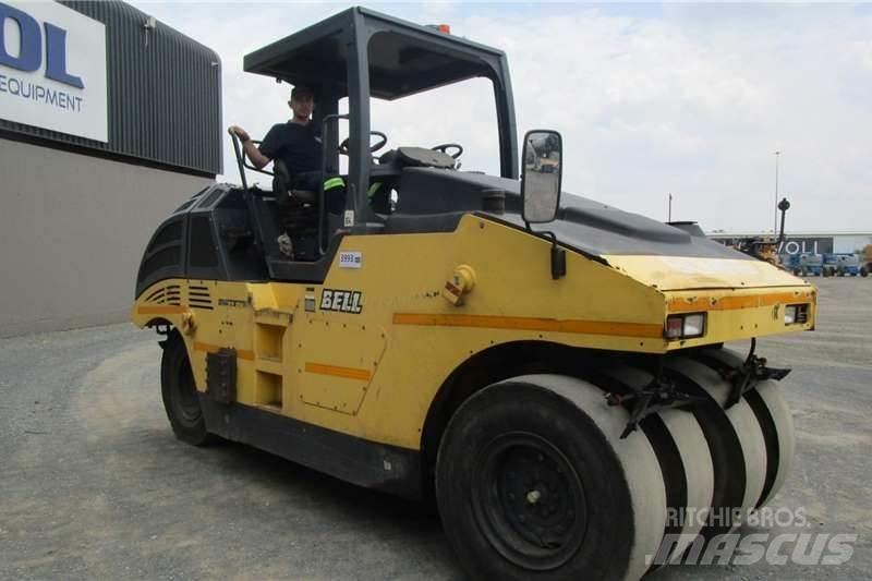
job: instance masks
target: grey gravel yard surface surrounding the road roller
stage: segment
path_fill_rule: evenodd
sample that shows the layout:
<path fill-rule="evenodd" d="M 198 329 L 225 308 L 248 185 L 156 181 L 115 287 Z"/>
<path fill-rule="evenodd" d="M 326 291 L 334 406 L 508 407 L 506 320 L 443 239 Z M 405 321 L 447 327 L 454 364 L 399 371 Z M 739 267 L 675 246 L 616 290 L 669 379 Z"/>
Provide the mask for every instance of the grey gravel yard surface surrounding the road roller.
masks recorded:
<path fill-rule="evenodd" d="M 856 534 L 852 557 L 649 579 L 869 579 L 872 282 L 815 283 L 819 329 L 759 347 L 794 368 L 798 456 L 772 506 L 801 509 L 808 526 L 743 532 Z M 245 446 L 175 440 L 159 356 L 130 325 L 0 339 L 0 578 L 461 578 L 438 520 L 415 505 Z"/>

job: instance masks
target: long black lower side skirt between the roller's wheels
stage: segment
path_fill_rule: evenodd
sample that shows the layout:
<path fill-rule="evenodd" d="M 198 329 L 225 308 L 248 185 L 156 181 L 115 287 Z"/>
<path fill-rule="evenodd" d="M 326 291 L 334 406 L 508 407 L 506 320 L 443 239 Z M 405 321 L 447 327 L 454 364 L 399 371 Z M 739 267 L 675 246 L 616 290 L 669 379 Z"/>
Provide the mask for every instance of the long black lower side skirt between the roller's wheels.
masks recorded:
<path fill-rule="evenodd" d="M 199 396 L 206 428 L 359 486 L 421 498 L 421 460 L 415 450 L 376 444 L 249 406 L 216 403 Z"/>

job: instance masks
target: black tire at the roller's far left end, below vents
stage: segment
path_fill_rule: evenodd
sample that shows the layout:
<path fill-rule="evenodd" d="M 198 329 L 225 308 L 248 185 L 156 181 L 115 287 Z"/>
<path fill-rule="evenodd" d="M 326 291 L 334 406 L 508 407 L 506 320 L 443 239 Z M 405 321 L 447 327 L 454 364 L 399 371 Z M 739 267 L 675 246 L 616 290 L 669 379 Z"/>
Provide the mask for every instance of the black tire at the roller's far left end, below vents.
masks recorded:
<path fill-rule="evenodd" d="M 160 395 L 164 410 L 177 438 L 193 446 L 206 446 L 214 443 L 217 437 L 207 432 L 199 404 L 197 403 L 198 414 L 195 419 L 185 417 L 180 409 L 182 392 L 189 389 L 193 389 L 194 395 L 197 395 L 187 349 L 179 331 L 173 330 L 164 342 L 164 355 L 160 360 Z"/>

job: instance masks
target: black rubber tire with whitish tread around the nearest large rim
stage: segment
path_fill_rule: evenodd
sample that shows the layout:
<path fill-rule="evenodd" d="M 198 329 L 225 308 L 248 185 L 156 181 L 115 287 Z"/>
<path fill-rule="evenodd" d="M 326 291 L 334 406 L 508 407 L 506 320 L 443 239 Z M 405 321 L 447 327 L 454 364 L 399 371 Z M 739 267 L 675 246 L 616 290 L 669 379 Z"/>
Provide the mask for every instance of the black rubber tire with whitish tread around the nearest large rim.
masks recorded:
<path fill-rule="evenodd" d="M 639 579 L 666 522 L 666 492 L 654 450 L 637 431 L 620 439 L 627 412 L 608 407 L 595 386 L 571 377 L 529 375 L 492 385 L 451 417 L 436 461 L 443 524 L 470 579 Z M 494 438 L 526 432 L 546 439 L 582 481 L 588 526 L 578 550 L 555 569 L 531 570 L 500 554 L 472 509 L 482 451 Z"/>

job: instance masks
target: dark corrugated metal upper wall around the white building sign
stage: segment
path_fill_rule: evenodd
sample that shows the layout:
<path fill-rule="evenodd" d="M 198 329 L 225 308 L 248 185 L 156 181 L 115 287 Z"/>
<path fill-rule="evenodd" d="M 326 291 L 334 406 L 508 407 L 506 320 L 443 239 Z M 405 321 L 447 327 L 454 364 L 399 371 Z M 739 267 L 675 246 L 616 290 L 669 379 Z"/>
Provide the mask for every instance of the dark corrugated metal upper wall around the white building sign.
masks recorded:
<path fill-rule="evenodd" d="M 123 2 L 64 1 L 106 24 L 109 142 L 0 120 L 0 129 L 215 175 L 221 173 L 221 61 Z M 147 40 L 146 40 L 147 38 Z"/>

